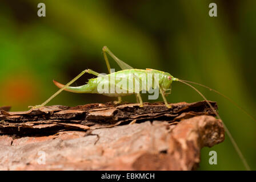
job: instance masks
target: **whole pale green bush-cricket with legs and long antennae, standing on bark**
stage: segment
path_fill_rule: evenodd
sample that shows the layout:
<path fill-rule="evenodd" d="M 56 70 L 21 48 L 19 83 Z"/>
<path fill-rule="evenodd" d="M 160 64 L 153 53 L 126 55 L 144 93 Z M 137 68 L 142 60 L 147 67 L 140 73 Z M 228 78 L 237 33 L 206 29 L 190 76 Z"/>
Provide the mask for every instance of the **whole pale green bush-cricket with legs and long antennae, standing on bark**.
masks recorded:
<path fill-rule="evenodd" d="M 45 106 L 50 100 L 52 100 L 55 96 L 57 96 L 63 90 L 66 90 L 66 91 L 69 91 L 69 92 L 74 92 L 74 93 L 96 93 L 96 94 L 103 94 L 103 95 L 106 95 L 106 96 L 109 96 L 109 97 L 118 97 L 118 101 L 116 101 L 116 103 L 121 102 L 121 96 L 136 94 L 137 98 L 138 98 L 139 106 L 143 107 L 142 98 L 141 98 L 141 95 L 140 95 L 139 92 L 141 92 L 142 90 L 149 91 L 150 88 L 159 89 L 159 92 L 162 95 L 162 98 L 163 98 L 163 101 L 165 102 L 165 105 L 168 108 L 170 108 L 171 105 L 168 104 L 165 96 L 166 96 L 166 94 L 170 93 L 168 91 L 171 91 L 172 82 L 173 81 L 179 81 L 179 82 L 182 82 L 183 84 L 186 84 L 186 85 L 190 86 L 198 94 L 200 94 L 202 96 L 202 98 L 207 102 L 207 104 L 210 106 L 210 108 L 213 110 L 213 112 L 215 113 L 215 115 L 217 115 L 217 117 L 219 119 L 221 119 L 219 117 L 219 114 L 213 108 L 213 106 L 211 106 L 210 102 L 207 101 L 207 99 L 205 98 L 205 96 L 203 96 L 203 94 L 201 92 L 199 92 L 196 88 L 194 88 L 194 86 L 190 85 L 189 83 L 197 84 L 199 86 L 203 86 L 207 89 L 210 89 L 210 90 L 214 91 L 217 94 L 220 94 L 221 96 L 227 98 L 227 100 L 231 101 L 234 105 L 236 105 L 243 112 L 245 112 L 245 114 L 249 115 L 249 117 L 254 119 L 250 114 L 248 114 L 245 110 L 243 110 L 241 107 L 239 107 L 239 105 L 237 105 L 234 101 L 230 100 L 229 97 L 224 96 L 223 94 L 219 93 L 218 91 L 216 91 L 214 89 L 211 89 L 211 88 L 209 88 L 205 85 L 202 85 L 202 84 L 198 84 L 196 82 L 180 80 L 178 78 L 175 78 L 175 77 L 171 76 L 170 73 L 167 73 L 167 72 L 162 72 L 162 71 L 158 71 L 158 70 L 155 70 L 155 69 L 134 69 L 133 67 L 130 67 L 130 65 L 126 64 L 122 60 L 119 60 L 106 46 L 103 47 L 102 50 L 103 50 L 103 56 L 104 56 L 105 61 L 106 61 L 107 69 L 109 70 L 108 75 L 102 75 L 102 74 L 99 74 L 95 71 L 92 71 L 91 69 L 86 69 L 85 71 L 82 71 L 73 80 L 68 82 L 66 85 L 62 85 L 59 82 L 54 81 L 54 84 L 57 85 L 61 89 L 59 89 L 56 93 L 54 93 L 53 96 L 51 96 L 48 100 L 43 102 L 43 104 L 37 105 L 37 106 L 32 106 L 33 109 Z M 110 64 L 109 64 L 109 60 L 107 59 L 106 53 L 108 53 L 116 61 L 116 63 L 119 65 L 119 67 L 121 67 L 122 71 L 113 72 L 113 73 L 110 72 Z M 87 84 L 82 85 L 82 86 L 70 86 L 71 84 L 73 84 L 73 82 L 75 82 L 79 77 L 81 77 L 85 73 L 93 74 L 93 75 L 97 76 L 97 78 L 91 78 L 87 82 Z M 152 76 L 152 75 L 154 75 L 154 76 Z M 157 79 L 156 79 L 155 75 L 158 76 Z M 149 76 L 152 76 L 151 80 L 150 80 Z M 122 81 L 124 80 L 125 85 L 129 85 L 130 82 L 137 82 L 138 85 L 133 85 L 131 87 L 130 86 L 125 87 L 125 86 L 123 86 L 123 82 L 121 83 L 121 80 Z M 102 92 L 99 92 L 99 89 L 98 89 L 99 85 L 104 85 L 104 87 L 107 85 L 109 88 L 111 88 L 111 86 L 115 86 L 115 88 L 118 88 L 119 90 L 120 89 L 125 90 L 127 92 L 121 93 L 121 92 L 117 92 L 117 90 L 114 89 L 114 92 L 102 93 Z M 137 92 L 135 92 L 135 91 L 137 91 Z M 254 119 L 254 121 L 256 121 L 256 119 Z M 227 127 L 225 126 L 225 124 L 223 124 L 223 125 L 224 125 L 224 128 L 226 130 L 227 135 L 229 135 L 229 138 L 230 138 L 235 150 L 237 151 L 237 153 L 239 155 L 239 158 L 242 160 L 246 169 L 249 170 L 250 167 L 248 166 L 245 158 L 243 157 L 241 150 L 237 146 L 237 143 L 235 142 L 234 138 L 230 134 L 230 132 L 227 129 Z"/>

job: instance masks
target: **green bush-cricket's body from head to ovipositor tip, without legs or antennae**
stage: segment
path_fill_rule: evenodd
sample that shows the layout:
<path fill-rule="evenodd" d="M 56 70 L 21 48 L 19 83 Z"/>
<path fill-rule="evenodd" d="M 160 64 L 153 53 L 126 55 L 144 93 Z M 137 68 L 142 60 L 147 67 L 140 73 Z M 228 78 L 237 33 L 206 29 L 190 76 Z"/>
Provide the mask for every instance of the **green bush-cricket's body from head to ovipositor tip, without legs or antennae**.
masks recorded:
<path fill-rule="evenodd" d="M 158 75 L 158 82 L 159 87 L 166 92 L 167 90 L 170 90 L 171 82 L 173 80 L 177 80 L 177 78 L 174 78 L 170 75 L 170 73 L 158 71 L 155 69 L 125 69 L 122 71 L 110 73 L 109 75 L 105 76 L 98 76 L 97 78 L 91 78 L 87 82 L 87 84 L 82 86 L 67 86 L 65 89 L 68 92 L 74 92 L 74 93 L 96 93 L 96 94 L 103 94 L 105 96 L 109 97 L 122 97 L 122 96 L 128 96 L 130 94 L 135 94 L 138 90 L 141 92 L 143 89 L 146 91 L 149 91 L 150 88 L 155 89 L 155 80 L 154 75 Z M 149 79 L 151 77 L 151 80 Z M 117 93 L 116 89 L 114 89 L 115 93 L 110 93 L 110 90 L 108 93 L 100 93 L 98 89 L 98 85 L 108 85 L 109 88 L 111 88 L 111 78 L 114 78 L 113 84 L 115 86 L 121 85 L 122 86 L 122 79 L 125 80 L 126 85 L 129 85 L 130 82 L 134 82 L 136 80 L 139 81 L 139 89 L 135 90 L 135 86 L 132 88 L 129 88 L 129 86 L 125 89 L 126 93 Z M 122 79 L 119 79 L 122 78 Z M 137 79 L 138 78 L 138 79 Z M 60 84 L 57 81 L 54 81 L 54 84 L 58 86 L 59 88 L 63 88 L 65 85 Z M 158 86 L 158 85 L 157 85 Z M 123 89 L 120 88 L 120 89 Z"/>

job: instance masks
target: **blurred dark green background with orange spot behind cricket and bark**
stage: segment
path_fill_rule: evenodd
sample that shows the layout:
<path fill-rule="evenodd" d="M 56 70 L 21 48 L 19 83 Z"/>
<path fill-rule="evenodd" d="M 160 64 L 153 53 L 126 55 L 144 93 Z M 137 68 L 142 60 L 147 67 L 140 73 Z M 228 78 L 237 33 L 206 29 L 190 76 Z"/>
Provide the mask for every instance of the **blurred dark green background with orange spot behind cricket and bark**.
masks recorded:
<path fill-rule="evenodd" d="M 44 2 L 46 17 L 37 16 Z M 218 17 L 209 16 L 209 3 Z M 229 96 L 254 117 L 256 1 L 35 1 L 0 2 L 0 106 L 12 111 L 38 105 L 83 69 L 107 72 L 102 47 L 108 46 L 134 68 L 153 68 L 199 82 Z M 114 61 L 111 64 L 117 66 Z M 85 84 L 85 75 L 74 85 Z M 229 101 L 199 88 L 217 101 L 219 114 L 247 162 L 256 169 L 256 123 Z M 146 95 L 143 95 L 147 101 Z M 135 97 L 123 98 L 134 102 Z M 62 92 L 49 105 L 83 105 L 114 98 Z M 202 100 L 179 82 L 169 102 Z M 161 101 L 161 98 L 159 98 Z M 218 154 L 210 165 L 209 151 Z M 229 138 L 203 148 L 201 170 L 245 169 Z"/>

